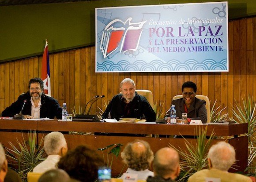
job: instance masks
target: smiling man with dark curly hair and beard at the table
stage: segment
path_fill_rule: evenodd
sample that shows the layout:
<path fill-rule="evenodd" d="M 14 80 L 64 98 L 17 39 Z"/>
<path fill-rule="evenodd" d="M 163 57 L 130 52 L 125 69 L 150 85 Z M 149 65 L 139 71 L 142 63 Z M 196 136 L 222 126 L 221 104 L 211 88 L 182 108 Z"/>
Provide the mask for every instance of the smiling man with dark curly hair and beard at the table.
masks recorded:
<path fill-rule="evenodd" d="M 24 107 L 23 107 L 24 105 Z M 22 109 L 23 107 L 23 109 Z M 61 107 L 56 99 L 44 94 L 44 82 L 40 78 L 29 81 L 29 91 L 19 95 L 17 101 L 4 109 L 2 116 L 14 116 L 22 110 L 25 119 L 61 118 Z"/>

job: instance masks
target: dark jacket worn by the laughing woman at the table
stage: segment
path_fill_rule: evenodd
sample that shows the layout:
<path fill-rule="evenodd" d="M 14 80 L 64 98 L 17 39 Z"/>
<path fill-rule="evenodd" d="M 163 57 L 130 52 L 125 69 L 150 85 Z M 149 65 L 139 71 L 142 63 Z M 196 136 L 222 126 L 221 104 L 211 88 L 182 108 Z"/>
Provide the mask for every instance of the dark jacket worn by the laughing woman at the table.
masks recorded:
<path fill-rule="evenodd" d="M 175 105 L 177 117 L 182 119 L 182 113 L 185 113 L 183 98 L 173 100 L 172 104 Z M 207 111 L 206 111 L 205 105 L 206 105 L 205 100 L 201 100 L 201 99 L 195 97 L 194 102 L 188 108 L 188 118 L 190 118 L 192 120 L 201 120 L 202 123 L 206 123 L 207 122 Z"/>

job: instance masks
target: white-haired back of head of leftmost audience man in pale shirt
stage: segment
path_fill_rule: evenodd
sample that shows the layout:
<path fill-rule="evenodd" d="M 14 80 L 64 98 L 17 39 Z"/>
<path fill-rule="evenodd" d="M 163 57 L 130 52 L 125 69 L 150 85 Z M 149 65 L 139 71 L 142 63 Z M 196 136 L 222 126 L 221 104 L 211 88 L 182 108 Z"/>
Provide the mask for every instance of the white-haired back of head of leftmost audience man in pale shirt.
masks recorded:
<path fill-rule="evenodd" d="M 44 146 L 47 155 L 53 155 L 58 154 L 63 147 L 67 147 L 67 142 L 62 133 L 53 131 L 45 136 Z"/>

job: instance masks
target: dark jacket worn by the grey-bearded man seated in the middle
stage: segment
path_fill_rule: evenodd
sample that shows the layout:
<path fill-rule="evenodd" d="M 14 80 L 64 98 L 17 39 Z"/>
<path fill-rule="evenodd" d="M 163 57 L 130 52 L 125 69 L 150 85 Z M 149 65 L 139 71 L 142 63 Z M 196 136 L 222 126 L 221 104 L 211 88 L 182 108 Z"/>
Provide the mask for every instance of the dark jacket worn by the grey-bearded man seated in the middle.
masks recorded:
<path fill-rule="evenodd" d="M 109 102 L 105 112 L 102 114 L 102 119 L 108 118 L 110 113 L 111 119 L 116 120 L 124 117 L 143 119 L 143 116 L 145 116 L 147 121 L 154 122 L 156 120 L 156 114 L 154 113 L 154 110 L 150 104 L 147 102 L 147 99 L 142 95 L 137 94 L 137 92 L 131 102 L 131 113 L 129 116 L 124 116 L 124 105 L 123 95 L 115 95 Z"/>

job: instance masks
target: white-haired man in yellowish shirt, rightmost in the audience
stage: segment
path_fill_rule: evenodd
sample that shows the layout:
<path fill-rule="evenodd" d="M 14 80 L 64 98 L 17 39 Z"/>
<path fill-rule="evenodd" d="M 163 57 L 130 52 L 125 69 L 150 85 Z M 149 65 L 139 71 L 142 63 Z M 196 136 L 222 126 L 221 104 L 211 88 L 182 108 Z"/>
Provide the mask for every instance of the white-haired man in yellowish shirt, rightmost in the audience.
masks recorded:
<path fill-rule="evenodd" d="M 188 182 L 208 182 L 207 179 L 216 178 L 221 182 L 252 182 L 244 175 L 229 173 L 229 168 L 236 161 L 236 153 L 233 146 L 226 142 L 218 142 L 211 146 L 208 153 L 210 169 L 203 169 L 188 178 Z"/>

